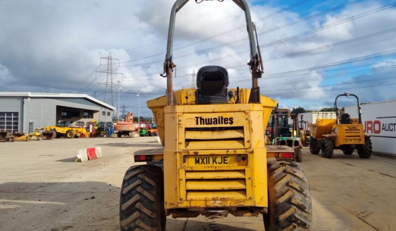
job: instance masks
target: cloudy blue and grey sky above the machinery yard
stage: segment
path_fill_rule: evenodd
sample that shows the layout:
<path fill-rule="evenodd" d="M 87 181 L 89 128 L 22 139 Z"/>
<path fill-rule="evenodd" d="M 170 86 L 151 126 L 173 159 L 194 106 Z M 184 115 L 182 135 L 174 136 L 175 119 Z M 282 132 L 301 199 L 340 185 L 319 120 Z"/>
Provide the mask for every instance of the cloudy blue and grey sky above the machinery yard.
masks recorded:
<path fill-rule="evenodd" d="M 265 74 L 262 94 L 280 106 L 331 107 L 337 94 L 363 102 L 396 98 L 396 3 L 391 0 L 248 0 Z M 104 100 L 114 60 L 121 105 L 149 116 L 165 92 L 160 77 L 173 0 L 0 0 L 0 91 L 85 93 Z M 178 13 L 176 89 L 220 65 L 229 87 L 250 87 L 244 14 L 231 0 L 195 0 Z M 115 87 L 116 106 L 118 86 Z M 111 104 L 111 96 L 108 97 Z M 344 102 L 345 105 L 348 102 Z"/>

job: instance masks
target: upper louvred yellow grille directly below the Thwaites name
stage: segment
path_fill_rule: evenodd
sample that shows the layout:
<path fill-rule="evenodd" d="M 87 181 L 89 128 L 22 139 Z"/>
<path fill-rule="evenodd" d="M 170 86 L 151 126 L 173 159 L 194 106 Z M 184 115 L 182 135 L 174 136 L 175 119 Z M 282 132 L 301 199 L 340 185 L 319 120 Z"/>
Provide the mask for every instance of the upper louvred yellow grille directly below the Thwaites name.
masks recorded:
<path fill-rule="evenodd" d="M 235 127 L 186 127 L 186 149 L 242 149 L 245 148 L 243 126 Z"/>

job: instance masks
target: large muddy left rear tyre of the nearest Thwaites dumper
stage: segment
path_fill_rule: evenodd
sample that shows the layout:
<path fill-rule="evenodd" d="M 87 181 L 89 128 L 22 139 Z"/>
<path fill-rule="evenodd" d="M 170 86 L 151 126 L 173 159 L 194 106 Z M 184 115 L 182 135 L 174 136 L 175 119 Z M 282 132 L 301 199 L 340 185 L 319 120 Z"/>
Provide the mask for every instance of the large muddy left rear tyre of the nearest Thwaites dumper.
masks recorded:
<path fill-rule="evenodd" d="M 165 231 L 164 174 L 160 167 L 132 166 L 125 173 L 120 227 L 122 231 Z"/>

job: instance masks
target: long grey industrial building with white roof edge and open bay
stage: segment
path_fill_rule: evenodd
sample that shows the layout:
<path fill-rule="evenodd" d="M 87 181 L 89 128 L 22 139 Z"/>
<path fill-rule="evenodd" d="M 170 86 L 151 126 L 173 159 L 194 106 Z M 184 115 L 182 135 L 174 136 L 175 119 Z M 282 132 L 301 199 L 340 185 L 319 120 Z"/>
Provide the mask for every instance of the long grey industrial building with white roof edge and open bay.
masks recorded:
<path fill-rule="evenodd" d="M 28 133 L 59 120 L 110 122 L 115 110 L 85 94 L 0 92 L 0 130 Z"/>

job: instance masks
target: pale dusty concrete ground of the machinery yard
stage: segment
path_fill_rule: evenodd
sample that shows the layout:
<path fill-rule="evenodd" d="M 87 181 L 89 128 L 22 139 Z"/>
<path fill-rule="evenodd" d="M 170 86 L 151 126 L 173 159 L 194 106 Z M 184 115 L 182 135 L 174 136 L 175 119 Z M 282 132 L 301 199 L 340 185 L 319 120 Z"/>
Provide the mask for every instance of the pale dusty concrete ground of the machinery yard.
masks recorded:
<path fill-rule="evenodd" d="M 132 153 L 159 147 L 154 137 L 0 143 L 0 231 L 117 231 L 119 194 Z M 104 157 L 75 163 L 77 149 Z M 396 230 L 396 160 L 333 159 L 303 150 L 312 193 L 313 231 Z M 167 219 L 168 231 L 263 231 L 263 218 Z"/>

